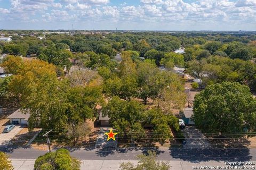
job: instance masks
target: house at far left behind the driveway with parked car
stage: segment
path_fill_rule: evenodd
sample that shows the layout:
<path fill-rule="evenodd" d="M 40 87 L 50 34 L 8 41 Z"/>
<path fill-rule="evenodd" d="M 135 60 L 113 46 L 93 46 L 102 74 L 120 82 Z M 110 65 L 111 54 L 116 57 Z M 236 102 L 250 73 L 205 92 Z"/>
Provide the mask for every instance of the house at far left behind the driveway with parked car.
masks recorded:
<path fill-rule="evenodd" d="M 13 112 L 9 118 L 11 124 L 25 124 L 28 125 L 28 118 L 30 117 L 29 113 L 23 114 L 21 113 L 20 109 Z"/>

